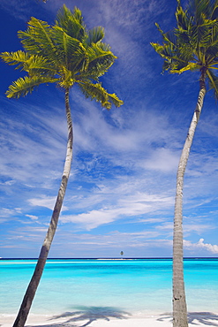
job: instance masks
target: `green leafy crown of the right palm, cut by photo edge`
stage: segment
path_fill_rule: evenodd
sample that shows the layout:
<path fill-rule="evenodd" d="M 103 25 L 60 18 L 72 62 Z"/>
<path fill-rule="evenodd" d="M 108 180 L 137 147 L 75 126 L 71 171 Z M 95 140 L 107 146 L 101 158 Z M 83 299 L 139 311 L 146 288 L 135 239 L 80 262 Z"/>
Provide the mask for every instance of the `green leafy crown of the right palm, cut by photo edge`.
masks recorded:
<path fill-rule="evenodd" d="M 179 74 L 204 72 L 217 96 L 218 81 L 214 70 L 218 69 L 218 1 L 191 0 L 185 11 L 180 0 L 177 3 L 177 27 L 164 33 L 156 24 L 163 44 L 151 43 L 164 59 L 162 70 Z"/>

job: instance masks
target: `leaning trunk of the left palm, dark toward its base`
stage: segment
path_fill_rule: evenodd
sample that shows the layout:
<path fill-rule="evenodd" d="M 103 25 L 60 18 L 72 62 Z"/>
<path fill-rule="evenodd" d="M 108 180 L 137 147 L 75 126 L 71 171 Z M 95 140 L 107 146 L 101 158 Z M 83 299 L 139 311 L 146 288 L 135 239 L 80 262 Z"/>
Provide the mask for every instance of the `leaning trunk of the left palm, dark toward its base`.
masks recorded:
<path fill-rule="evenodd" d="M 64 202 L 64 194 L 66 191 L 67 182 L 69 179 L 70 171 L 71 171 L 71 159 L 72 159 L 72 141 L 73 141 L 73 134 L 72 134 L 72 122 L 71 122 L 71 110 L 69 104 L 69 89 L 65 91 L 65 108 L 66 108 L 66 118 L 67 118 L 67 125 L 68 125 L 68 141 L 67 141 L 67 151 L 65 157 L 65 164 L 64 164 L 64 172 L 62 176 L 61 185 L 56 197 L 56 204 L 52 213 L 52 217 L 49 224 L 49 229 L 43 245 L 41 247 L 41 253 L 39 255 L 38 262 L 35 266 L 33 277 L 26 289 L 26 294 L 22 301 L 22 304 L 19 308 L 19 314 L 13 324 L 13 327 L 23 327 L 26 323 L 26 318 L 28 316 L 29 310 L 31 308 L 32 302 L 34 300 L 34 295 L 37 290 L 37 287 L 41 280 L 41 275 L 49 255 L 49 248 L 51 246 L 52 240 L 54 238 L 56 232 L 56 226 L 58 222 L 58 218 L 60 215 L 60 211 L 62 208 L 62 204 Z"/>

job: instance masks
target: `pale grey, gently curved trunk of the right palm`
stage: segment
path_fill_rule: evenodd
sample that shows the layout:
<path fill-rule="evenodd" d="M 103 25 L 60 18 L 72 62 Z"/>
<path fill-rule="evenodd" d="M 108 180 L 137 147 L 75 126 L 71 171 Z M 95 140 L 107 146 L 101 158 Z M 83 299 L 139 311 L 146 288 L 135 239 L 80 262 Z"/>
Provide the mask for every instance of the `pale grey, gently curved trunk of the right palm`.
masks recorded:
<path fill-rule="evenodd" d="M 184 264 L 183 264 L 183 186 L 184 171 L 192 147 L 192 141 L 206 94 L 206 69 L 201 70 L 199 80 L 199 97 L 194 111 L 189 132 L 184 142 L 184 148 L 177 170 L 177 193 L 175 200 L 174 234 L 173 234 L 173 326 L 187 327 L 187 307 L 184 293 Z"/>

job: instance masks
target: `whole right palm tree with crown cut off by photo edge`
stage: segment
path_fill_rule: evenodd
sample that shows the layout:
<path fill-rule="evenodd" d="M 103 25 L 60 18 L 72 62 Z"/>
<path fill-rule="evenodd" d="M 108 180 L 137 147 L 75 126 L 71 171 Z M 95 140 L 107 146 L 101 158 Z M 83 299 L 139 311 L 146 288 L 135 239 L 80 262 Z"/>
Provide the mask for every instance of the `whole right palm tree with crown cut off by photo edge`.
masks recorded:
<path fill-rule="evenodd" d="M 173 325 L 186 327 L 187 308 L 184 293 L 183 267 L 183 186 L 184 172 L 192 147 L 192 141 L 199 122 L 207 91 L 210 88 L 218 95 L 218 79 L 214 70 L 218 69 L 218 1 L 190 0 L 184 11 L 177 0 L 177 28 L 162 34 L 163 44 L 151 43 L 155 51 L 164 59 L 163 71 L 182 73 L 199 72 L 199 95 L 192 122 L 184 142 L 177 169 L 177 191 L 175 199 L 173 235 Z"/>

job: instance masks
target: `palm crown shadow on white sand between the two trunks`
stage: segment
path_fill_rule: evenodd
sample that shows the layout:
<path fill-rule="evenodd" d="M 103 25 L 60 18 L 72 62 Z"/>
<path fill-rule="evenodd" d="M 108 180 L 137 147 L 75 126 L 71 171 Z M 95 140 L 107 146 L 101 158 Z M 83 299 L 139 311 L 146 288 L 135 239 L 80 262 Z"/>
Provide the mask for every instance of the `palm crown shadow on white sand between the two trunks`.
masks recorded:
<path fill-rule="evenodd" d="M 85 327 L 96 320 L 103 319 L 109 321 L 110 318 L 128 319 L 130 313 L 114 307 L 74 307 L 77 310 L 64 312 L 59 316 L 53 316 L 49 319 L 51 323 L 37 325 L 37 327 Z M 75 324 L 75 323 L 79 323 Z M 82 324 L 80 324 L 82 323 Z M 30 325 L 29 325 L 30 326 Z"/>

